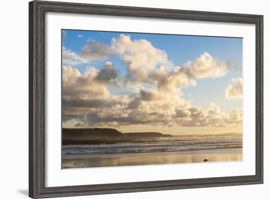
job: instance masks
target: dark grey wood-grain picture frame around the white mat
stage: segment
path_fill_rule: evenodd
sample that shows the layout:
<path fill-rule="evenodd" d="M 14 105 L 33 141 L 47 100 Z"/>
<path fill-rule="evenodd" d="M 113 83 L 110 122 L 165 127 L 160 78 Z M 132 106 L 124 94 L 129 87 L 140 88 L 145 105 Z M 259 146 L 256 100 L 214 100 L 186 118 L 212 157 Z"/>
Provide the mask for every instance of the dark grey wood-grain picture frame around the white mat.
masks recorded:
<path fill-rule="evenodd" d="M 99 185 L 45 186 L 45 13 L 195 20 L 256 26 L 256 174 Z M 145 7 L 29 2 L 29 197 L 49 198 L 263 183 L 263 16 Z"/>

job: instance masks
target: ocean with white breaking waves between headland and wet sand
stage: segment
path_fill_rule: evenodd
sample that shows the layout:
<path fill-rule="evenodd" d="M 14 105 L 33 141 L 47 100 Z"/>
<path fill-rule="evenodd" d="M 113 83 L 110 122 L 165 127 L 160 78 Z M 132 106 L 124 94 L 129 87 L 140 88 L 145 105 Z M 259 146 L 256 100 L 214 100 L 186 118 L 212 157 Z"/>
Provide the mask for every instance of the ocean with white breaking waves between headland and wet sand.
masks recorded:
<path fill-rule="evenodd" d="M 63 145 L 63 155 L 151 153 L 242 148 L 242 134 L 181 135 L 99 145 Z"/>

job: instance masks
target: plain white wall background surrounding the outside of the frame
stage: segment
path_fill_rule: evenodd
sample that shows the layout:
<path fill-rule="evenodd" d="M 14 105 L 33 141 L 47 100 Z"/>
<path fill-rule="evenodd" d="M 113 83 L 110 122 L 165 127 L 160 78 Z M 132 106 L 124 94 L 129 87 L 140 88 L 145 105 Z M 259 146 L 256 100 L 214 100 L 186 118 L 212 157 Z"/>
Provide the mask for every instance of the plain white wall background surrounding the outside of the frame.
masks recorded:
<path fill-rule="evenodd" d="M 265 183 L 174 191 L 143 192 L 71 199 L 137 199 L 137 198 L 201 198 L 266 199 L 270 195 L 270 80 L 267 67 L 270 58 L 270 10 L 267 0 L 61 0 L 84 3 L 114 4 L 186 10 L 203 10 L 264 15 L 264 122 Z M 1 3 L 0 12 L 0 198 L 24 199 L 28 195 L 28 0 Z M 68 198 L 67 198 L 68 199 Z"/>

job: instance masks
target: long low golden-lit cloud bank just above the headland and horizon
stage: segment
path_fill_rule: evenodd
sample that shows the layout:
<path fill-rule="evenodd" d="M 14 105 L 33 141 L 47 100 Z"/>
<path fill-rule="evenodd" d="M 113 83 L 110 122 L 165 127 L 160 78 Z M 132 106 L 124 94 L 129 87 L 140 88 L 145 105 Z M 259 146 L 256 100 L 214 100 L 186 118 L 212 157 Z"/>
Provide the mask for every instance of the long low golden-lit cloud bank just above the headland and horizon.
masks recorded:
<path fill-rule="evenodd" d="M 88 68 L 84 75 L 66 67 L 63 70 L 63 116 L 77 126 L 166 125 L 228 126 L 242 123 L 241 110 L 220 112 L 215 103 L 203 111 L 181 98 L 157 88 L 142 88 L 130 96 L 109 93 L 105 83 L 97 80 L 100 71 Z M 74 74 L 74 75 L 71 75 Z M 97 84 L 98 83 L 98 84 Z"/>

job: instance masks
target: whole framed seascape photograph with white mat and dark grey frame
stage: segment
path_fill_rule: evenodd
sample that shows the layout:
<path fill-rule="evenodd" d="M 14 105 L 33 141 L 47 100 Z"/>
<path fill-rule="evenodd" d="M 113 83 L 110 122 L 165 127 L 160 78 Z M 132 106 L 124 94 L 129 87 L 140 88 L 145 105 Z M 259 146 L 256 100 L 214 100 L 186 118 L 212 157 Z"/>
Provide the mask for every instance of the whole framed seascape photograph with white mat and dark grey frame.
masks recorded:
<path fill-rule="evenodd" d="M 29 2 L 29 197 L 263 183 L 263 16 Z"/>

